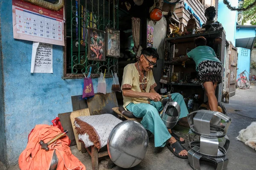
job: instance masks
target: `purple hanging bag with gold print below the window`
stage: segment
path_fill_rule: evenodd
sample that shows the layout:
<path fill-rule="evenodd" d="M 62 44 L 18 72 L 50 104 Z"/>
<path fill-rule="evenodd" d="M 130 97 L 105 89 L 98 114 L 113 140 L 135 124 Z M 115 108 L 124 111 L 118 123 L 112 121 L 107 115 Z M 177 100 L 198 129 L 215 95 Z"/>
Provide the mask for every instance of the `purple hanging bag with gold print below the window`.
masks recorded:
<path fill-rule="evenodd" d="M 86 77 L 84 74 L 84 87 L 83 87 L 83 99 L 92 98 L 94 96 L 94 90 L 93 90 L 93 82 L 90 77 L 92 67 L 90 67 L 90 72 L 88 76 Z"/>

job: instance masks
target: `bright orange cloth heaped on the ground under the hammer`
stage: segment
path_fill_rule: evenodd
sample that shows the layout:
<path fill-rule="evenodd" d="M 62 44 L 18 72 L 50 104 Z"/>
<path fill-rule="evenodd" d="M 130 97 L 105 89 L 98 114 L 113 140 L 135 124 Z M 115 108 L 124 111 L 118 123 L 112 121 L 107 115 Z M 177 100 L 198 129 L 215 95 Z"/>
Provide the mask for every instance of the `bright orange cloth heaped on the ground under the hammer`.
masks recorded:
<path fill-rule="evenodd" d="M 49 170 L 53 152 L 58 157 L 57 170 L 85 170 L 84 165 L 71 153 L 68 147 L 69 138 L 67 135 L 50 144 L 49 151 L 41 149 L 39 142 L 49 142 L 52 138 L 61 133 L 58 127 L 50 125 L 36 125 L 29 136 L 26 149 L 20 154 L 19 166 L 21 170 Z"/>

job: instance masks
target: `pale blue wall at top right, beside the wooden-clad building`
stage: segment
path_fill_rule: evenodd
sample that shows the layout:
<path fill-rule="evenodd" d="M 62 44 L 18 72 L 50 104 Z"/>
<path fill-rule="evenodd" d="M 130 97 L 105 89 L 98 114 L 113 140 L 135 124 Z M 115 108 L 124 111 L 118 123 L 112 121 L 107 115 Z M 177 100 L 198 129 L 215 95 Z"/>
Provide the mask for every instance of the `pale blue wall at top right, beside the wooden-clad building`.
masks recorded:
<path fill-rule="evenodd" d="M 232 6 L 238 6 L 238 0 L 229 0 Z M 236 45 L 236 21 L 237 12 L 230 11 L 223 3 L 223 0 L 219 0 L 218 3 L 218 22 L 222 24 L 226 31 L 226 39 L 231 41 L 233 45 Z"/>

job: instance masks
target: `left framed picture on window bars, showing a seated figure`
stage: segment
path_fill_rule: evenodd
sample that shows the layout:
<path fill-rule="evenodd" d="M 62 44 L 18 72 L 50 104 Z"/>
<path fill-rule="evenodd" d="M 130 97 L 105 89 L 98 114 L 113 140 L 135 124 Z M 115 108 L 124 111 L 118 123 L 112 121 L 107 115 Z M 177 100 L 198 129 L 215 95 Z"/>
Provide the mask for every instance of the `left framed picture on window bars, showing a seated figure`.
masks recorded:
<path fill-rule="evenodd" d="M 88 32 L 88 59 L 105 61 L 105 32 L 94 28 L 89 28 Z"/>

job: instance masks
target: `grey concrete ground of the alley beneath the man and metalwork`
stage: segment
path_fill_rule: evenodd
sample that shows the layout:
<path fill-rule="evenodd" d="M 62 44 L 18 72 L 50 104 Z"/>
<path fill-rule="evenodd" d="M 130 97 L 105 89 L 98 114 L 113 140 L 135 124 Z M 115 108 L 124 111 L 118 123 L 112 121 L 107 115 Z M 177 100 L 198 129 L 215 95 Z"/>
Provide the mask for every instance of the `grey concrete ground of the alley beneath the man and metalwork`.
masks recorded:
<path fill-rule="evenodd" d="M 236 140 L 236 136 L 241 129 L 246 128 L 251 122 L 256 121 L 256 85 L 251 85 L 247 90 L 236 90 L 236 95 L 230 98 L 229 104 L 224 104 L 228 116 L 232 119 L 227 136 L 230 139 L 230 148 L 227 152 L 229 163 L 227 170 L 255 170 L 256 151 L 245 145 L 243 142 Z M 186 140 L 185 147 L 188 147 L 188 128 L 176 126 L 179 130 L 177 134 L 183 136 Z M 174 131 L 175 131 L 174 130 Z M 71 147 L 72 153 L 85 165 L 87 170 L 92 170 L 91 159 L 88 153 L 82 154 Z M 102 161 L 104 163 L 104 161 Z M 154 138 L 150 139 L 148 151 L 145 159 L 136 167 L 128 170 L 191 170 L 188 159 L 179 159 L 175 157 L 167 147 L 157 152 L 154 148 Z M 214 170 L 215 166 L 208 162 L 201 162 L 202 170 Z M 6 170 L 0 163 L 0 170 Z M 10 167 L 8 170 L 19 170 L 18 166 Z M 103 164 L 99 164 L 99 170 L 107 170 Z M 114 167 L 112 170 L 125 170 L 121 167 Z"/>

